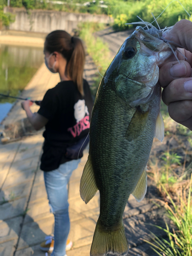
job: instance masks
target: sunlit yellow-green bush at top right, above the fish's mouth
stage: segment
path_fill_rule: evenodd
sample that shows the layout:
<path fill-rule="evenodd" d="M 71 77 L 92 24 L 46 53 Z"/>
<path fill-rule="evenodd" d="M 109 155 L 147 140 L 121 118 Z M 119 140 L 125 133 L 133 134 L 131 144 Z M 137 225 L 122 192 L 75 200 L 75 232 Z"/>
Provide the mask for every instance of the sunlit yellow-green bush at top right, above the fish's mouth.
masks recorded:
<path fill-rule="evenodd" d="M 185 0 L 184 7 L 189 15 L 192 15 L 191 0 Z M 157 20 L 160 28 L 173 26 L 180 19 L 189 19 L 192 21 L 192 18 L 189 17 L 186 11 L 177 1 L 170 3 L 169 0 L 141 0 L 129 3 L 119 2 L 118 6 L 114 5 L 111 9 L 115 17 L 115 30 L 130 28 L 131 26 L 126 26 L 125 23 L 137 22 L 137 15 L 144 21 L 151 23 L 154 21 L 152 13 L 157 18 L 163 12 Z M 156 26 L 155 22 L 154 26 Z"/>

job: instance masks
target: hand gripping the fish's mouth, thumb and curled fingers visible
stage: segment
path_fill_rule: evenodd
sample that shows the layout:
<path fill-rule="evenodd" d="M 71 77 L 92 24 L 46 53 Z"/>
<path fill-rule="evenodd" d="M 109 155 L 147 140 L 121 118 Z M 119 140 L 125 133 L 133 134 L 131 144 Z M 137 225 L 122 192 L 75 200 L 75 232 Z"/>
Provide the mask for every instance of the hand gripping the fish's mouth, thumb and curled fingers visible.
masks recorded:
<path fill-rule="evenodd" d="M 160 68 L 162 100 L 170 117 L 192 130 L 192 23 L 180 20 L 164 37 L 184 47 L 187 60 L 176 51 L 180 64 L 173 55 Z"/>

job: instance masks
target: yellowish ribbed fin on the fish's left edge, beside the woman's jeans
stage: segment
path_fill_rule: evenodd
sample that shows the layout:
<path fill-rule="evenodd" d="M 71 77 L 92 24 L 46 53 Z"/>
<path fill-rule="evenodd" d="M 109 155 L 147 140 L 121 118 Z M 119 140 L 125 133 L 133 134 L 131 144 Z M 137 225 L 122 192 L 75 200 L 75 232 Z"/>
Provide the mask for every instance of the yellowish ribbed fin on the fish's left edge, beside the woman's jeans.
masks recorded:
<path fill-rule="evenodd" d="M 91 158 L 88 157 L 88 161 L 84 166 L 80 181 L 80 196 L 82 200 L 87 204 L 95 196 L 97 190 L 98 187 L 93 172 Z"/>

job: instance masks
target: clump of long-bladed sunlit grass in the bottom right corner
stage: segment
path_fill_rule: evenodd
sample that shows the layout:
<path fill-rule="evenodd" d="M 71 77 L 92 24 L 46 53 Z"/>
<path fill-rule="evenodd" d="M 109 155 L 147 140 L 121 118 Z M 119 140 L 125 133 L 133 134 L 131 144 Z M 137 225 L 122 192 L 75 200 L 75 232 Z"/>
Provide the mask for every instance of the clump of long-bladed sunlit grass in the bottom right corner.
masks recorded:
<path fill-rule="evenodd" d="M 175 203 L 163 189 L 170 200 L 170 205 L 160 201 L 166 210 L 166 215 L 172 221 L 174 227 L 170 228 L 165 221 L 166 228 L 156 226 L 167 234 L 167 239 L 159 238 L 151 233 L 151 240 L 143 240 L 151 245 L 151 248 L 160 256 L 191 256 L 192 255 L 192 200 L 191 200 L 192 176 L 188 187 L 188 195 L 181 193 L 178 202 Z"/>

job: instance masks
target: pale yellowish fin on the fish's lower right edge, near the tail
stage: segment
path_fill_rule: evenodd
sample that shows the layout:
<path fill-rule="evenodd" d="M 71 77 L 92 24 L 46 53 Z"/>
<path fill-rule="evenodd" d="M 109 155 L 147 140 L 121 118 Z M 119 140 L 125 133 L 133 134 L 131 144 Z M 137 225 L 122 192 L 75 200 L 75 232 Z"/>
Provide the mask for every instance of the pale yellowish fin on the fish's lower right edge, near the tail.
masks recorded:
<path fill-rule="evenodd" d="M 146 175 L 146 168 L 144 169 L 137 186 L 135 187 L 132 195 L 135 197 L 135 199 L 140 202 L 143 200 L 145 194 L 146 194 L 146 188 L 147 188 L 147 175 Z"/>

